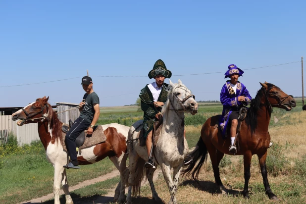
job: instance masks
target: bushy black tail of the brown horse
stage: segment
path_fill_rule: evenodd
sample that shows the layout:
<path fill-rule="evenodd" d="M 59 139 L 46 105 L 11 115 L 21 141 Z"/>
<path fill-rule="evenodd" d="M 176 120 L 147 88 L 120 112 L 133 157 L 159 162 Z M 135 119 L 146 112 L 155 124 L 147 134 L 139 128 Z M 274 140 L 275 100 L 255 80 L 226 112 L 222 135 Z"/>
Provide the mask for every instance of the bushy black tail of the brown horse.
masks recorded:
<path fill-rule="evenodd" d="M 193 180 L 198 182 L 198 176 L 200 173 L 200 170 L 204 165 L 206 165 L 207 162 L 207 148 L 204 144 L 202 138 L 200 137 L 197 146 L 195 147 L 194 151 L 188 154 L 188 156 L 191 156 L 193 158 L 193 162 L 190 164 L 187 164 L 183 167 L 182 175 L 190 176 L 192 175 Z M 197 164 L 197 166 L 196 166 Z M 196 167 L 195 167 L 196 166 Z M 195 167 L 195 169 L 194 169 Z M 193 170 L 194 169 L 194 170 Z"/>

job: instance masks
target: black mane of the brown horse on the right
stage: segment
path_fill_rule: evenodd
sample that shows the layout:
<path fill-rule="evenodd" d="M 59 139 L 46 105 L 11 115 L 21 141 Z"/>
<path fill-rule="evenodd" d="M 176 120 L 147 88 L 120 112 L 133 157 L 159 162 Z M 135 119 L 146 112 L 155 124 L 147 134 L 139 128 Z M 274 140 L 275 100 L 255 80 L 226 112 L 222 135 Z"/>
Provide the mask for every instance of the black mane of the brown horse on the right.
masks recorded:
<path fill-rule="evenodd" d="M 273 84 L 266 84 L 268 86 L 268 90 L 266 91 L 265 88 L 261 87 L 261 89 L 259 89 L 257 91 L 257 94 L 255 96 L 255 99 L 252 99 L 252 103 L 250 104 L 250 108 L 248 109 L 248 113 L 247 113 L 247 117 L 246 117 L 246 123 L 247 125 L 251 128 L 251 135 L 253 136 L 255 133 L 255 129 L 257 127 L 257 112 L 260 109 L 261 106 L 261 99 L 262 97 L 265 97 L 267 100 L 267 93 L 272 89 L 272 88 L 277 88 L 280 90 L 280 88 L 278 88 L 277 86 L 273 85 Z M 272 112 L 272 106 L 269 105 L 269 103 L 265 101 L 264 105 L 266 107 L 267 110 L 267 114 L 269 114 L 269 116 L 271 117 L 271 112 Z"/>

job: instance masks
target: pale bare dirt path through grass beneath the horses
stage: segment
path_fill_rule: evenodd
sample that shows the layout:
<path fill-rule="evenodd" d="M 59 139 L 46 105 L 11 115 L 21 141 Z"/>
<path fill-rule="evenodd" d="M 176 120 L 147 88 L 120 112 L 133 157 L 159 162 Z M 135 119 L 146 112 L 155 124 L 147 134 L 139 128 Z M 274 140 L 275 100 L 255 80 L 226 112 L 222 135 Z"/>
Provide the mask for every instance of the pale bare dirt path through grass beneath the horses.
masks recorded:
<path fill-rule="evenodd" d="M 154 172 L 154 176 L 153 176 L 153 180 L 154 181 L 158 178 L 158 175 L 160 173 L 161 173 L 161 169 L 157 168 L 156 171 Z M 119 171 L 118 170 L 114 170 L 114 171 L 112 171 L 110 173 L 107 173 L 107 174 L 105 174 L 103 176 L 100 176 L 98 178 L 94 178 L 94 179 L 90 179 L 90 180 L 87 180 L 87 181 L 83 181 L 82 183 L 79 183 L 78 185 L 71 186 L 71 187 L 69 187 L 69 192 L 72 192 L 74 190 L 77 190 L 77 189 L 89 186 L 91 184 L 95 184 L 95 183 L 98 183 L 98 182 L 105 181 L 107 179 L 110 179 L 110 178 L 113 178 L 113 177 L 119 176 L 119 175 L 120 175 Z M 144 185 L 148 185 L 148 184 L 149 184 L 148 181 L 146 181 L 146 183 Z M 106 195 L 95 197 L 93 201 L 82 202 L 82 204 L 93 204 L 93 203 L 94 204 L 108 204 L 109 202 L 113 201 L 115 189 L 116 188 L 108 189 L 107 190 L 108 193 Z M 127 188 L 125 189 L 125 192 L 127 193 Z M 60 190 L 59 195 L 63 195 L 63 194 L 64 194 L 63 190 Z M 40 204 L 40 203 L 45 202 L 47 200 L 50 200 L 52 198 L 54 198 L 53 193 L 48 194 L 46 196 L 43 196 L 41 198 L 33 199 L 31 201 L 22 202 L 20 204 Z M 78 202 L 76 201 L 74 203 L 78 203 Z"/>

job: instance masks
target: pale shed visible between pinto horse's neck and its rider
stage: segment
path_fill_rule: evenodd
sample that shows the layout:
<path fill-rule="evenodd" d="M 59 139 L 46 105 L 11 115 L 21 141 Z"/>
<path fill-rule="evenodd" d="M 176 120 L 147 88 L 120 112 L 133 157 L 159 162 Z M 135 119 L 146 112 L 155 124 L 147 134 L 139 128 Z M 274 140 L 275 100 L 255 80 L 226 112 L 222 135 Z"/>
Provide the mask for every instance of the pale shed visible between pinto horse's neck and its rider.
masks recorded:
<path fill-rule="evenodd" d="M 70 108 L 73 108 L 79 105 L 78 103 L 71 103 L 71 102 L 55 102 L 55 103 L 56 103 L 57 112 L 68 110 Z M 79 116 L 80 116 L 79 109 L 65 111 L 62 113 L 58 113 L 57 115 L 58 119 L 61 122 L 66 123 L 66 124 L 68 124 L 69 119 L 71 119 L 72 122 L 74 122 Z"/>

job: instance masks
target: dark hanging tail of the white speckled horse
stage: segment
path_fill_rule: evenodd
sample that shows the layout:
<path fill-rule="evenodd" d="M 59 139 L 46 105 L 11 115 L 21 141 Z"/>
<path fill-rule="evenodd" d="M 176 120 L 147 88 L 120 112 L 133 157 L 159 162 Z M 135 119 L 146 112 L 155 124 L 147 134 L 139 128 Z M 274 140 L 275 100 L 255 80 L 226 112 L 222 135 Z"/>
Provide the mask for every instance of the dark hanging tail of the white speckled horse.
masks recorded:
<path fill-rule="evenodd" d="M 136 197 L 136 196 L 140 196 L 140 186 L 141 183 L 144 181 L 144 179 L 146 179 L 146 168 L 145 168 L 145 160 L 142 159 L 141 157 L 139 157 L 136 161 L 136 172 L 137 175 L 134 178 L 134 185 L 132 186 L 132 196 Z M 129 169 L 129 167 L 128 167 Z"/>

